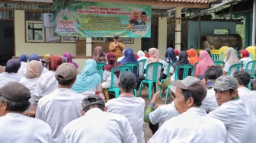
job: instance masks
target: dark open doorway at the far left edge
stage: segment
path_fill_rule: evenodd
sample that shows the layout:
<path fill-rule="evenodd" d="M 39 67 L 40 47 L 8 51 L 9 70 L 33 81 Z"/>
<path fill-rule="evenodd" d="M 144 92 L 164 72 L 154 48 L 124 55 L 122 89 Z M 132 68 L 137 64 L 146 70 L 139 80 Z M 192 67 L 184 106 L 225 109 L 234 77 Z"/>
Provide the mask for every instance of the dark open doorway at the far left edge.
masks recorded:
<path fill-rule="evenodd" d="M 0 65 L 14 56 L 14 21 L 0 20 Z"/>

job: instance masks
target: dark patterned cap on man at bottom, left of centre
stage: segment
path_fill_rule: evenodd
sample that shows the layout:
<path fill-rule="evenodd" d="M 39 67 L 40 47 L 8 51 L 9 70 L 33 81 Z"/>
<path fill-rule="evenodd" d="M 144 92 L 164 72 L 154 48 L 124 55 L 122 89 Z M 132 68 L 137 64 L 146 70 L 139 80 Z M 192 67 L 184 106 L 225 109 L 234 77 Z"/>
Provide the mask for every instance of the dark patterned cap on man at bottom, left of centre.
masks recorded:
<path fill-rule="evenodd" d="M 83 99 L 82 108 L 85 110 L 86 107 L 94 104 L 105 106 L 104 100 L 99 95 L 90 95 Z"/>

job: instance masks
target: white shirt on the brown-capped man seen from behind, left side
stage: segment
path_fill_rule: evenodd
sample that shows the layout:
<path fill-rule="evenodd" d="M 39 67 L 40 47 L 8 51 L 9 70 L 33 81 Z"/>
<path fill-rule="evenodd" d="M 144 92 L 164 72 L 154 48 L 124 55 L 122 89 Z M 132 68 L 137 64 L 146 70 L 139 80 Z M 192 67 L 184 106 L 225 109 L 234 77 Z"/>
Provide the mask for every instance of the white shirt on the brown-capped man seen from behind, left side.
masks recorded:
<path fill-rule="evenodd" d="M 42 97 L 37 104 L 36 118 L 47 122 L 53 130 L 53 142 L 59 142 L 62 129 L 82 116 L 84 96 L 68 88 L 58 88 Z"/>

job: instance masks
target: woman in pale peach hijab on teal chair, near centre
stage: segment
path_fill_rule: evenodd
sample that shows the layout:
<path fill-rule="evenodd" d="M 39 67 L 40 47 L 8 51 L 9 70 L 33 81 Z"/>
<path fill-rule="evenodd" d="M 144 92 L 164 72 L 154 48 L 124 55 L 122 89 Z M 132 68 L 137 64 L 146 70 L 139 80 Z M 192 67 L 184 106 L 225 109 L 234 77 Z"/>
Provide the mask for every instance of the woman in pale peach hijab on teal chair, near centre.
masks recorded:
<path fill-rule="evenodd" d="M 149 49 L 149 56 L 150 58 L 147 59 L 146 61 L 146 64 L 144 65 L 144 68 L 146 69 L 146 66 L 152 62 L 160 62 L 162 63 L 162 60 L 160 59 L 160 55 L 159 55 L 159 50 L 156 49 L 156 48 L 150 48 Z M 160 72 L 161 72 L 162 68 L 158 68 L 158 77 L 160 77 Z M 146 71 L 146 70 L 145 70 Z M 153 71 L 151 68 L 149 68 L 149 71 L 148 71 L 148 78 L 149 80 L 152 80 L 152 74 L 153 74 Z M 145 79 L 145 75 L 139 75 L 139 77 L 137 78 L 137 87 L 136 89 L 138 90 L 139 89 L 139 85 L 141 83 L 141 81 L 143 81 Z"/>

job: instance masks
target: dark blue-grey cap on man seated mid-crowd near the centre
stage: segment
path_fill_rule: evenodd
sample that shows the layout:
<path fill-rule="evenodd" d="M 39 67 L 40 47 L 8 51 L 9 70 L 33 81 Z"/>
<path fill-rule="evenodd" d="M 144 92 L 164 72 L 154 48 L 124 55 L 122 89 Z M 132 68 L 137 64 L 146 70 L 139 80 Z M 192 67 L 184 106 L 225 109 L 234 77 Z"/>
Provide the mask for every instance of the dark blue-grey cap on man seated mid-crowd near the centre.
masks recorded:
<path fill-rule="evenodd" d="M 131 71 L 124 71 L 119 77 L 120 84 L 126 89 L 134 87 L 136 83 L 136 77 Z"/>

